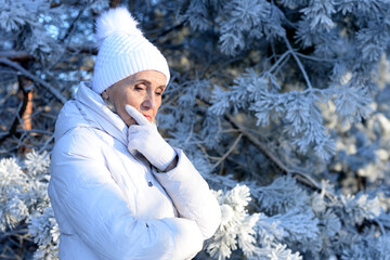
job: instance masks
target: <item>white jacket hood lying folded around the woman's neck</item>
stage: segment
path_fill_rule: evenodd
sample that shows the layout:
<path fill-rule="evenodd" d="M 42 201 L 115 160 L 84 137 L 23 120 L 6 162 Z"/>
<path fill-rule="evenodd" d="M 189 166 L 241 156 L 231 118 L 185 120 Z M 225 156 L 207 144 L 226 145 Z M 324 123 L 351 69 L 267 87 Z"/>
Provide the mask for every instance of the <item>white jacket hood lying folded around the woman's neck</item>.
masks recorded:
<path fill-rule="evenodd" d="M 125 121 L 91 89 L 91 82 L 86 81 L 80 82 L 75 100 L 66 102 L 62 108 L 55 123 L 55 141 L 69 130 L 80 127 L 96 128 L 127 144 L 128 127 Z"/>

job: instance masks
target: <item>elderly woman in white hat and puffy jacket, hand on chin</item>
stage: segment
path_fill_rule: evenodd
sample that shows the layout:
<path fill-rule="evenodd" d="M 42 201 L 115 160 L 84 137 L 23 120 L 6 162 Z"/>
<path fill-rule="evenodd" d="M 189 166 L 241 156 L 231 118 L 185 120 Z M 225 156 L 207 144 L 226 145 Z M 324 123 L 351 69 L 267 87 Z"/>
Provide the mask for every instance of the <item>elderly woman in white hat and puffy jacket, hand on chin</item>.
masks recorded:
<path fill-rule="evenodd" d="M 123 8 L 99 17 L 96 36 L 92 84 L 81 82 L 55 126 L 49 195 L 60 259 L 191 259 L 220 208 L 154 125 L 167 62 Z"/>

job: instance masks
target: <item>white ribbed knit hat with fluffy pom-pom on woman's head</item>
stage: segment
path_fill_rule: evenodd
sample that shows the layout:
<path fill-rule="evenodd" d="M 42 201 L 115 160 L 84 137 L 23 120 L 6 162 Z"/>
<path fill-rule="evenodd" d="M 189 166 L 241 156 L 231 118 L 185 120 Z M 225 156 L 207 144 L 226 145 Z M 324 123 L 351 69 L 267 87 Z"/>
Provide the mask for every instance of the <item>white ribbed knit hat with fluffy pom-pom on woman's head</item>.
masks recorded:
<path fill-rule="evenodd" d="M 138 22 L 126 8 L 112 9 L 98 18 L 98 57 L 92 89 L 101 94 L 105 89 L 142 70 L 170 74 L 167 60 L 136 28 Z"/>

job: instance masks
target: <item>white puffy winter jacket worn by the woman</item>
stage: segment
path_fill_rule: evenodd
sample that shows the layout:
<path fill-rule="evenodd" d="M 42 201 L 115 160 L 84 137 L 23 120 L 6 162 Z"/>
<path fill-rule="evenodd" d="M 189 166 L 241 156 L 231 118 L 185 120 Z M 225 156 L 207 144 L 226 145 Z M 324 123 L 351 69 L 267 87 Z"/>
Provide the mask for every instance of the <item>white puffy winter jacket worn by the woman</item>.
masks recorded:
<path fill-rule="evenodd" d="M 60 259 L 191 259 L 216 232 L 219 204 L 184 153 L 158 173 L 128 152 L 127 131 L 88 82 L 61 110 L 49 184 Z"/>

